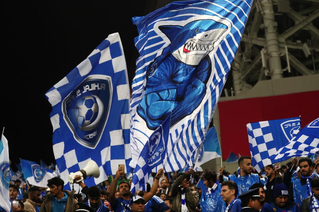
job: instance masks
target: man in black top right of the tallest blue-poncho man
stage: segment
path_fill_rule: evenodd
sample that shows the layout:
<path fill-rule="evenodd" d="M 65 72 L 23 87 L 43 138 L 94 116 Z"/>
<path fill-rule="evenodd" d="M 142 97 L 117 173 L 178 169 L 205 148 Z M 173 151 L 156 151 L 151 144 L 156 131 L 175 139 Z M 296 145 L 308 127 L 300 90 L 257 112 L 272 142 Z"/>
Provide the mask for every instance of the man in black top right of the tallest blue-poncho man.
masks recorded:
<path fill-rule="evenodd" d="M 272 189 L 273 187 L 278 184 L 278 183 L 283 183 L 282 178 L 279 175 L 279 170 L 276 169 L 276 165 L 268 165 L 266 166 L 266 176 L 267 176 L 267 181 L 265 183 L 266 187 L 266 202 L 273 202 L 274 199 L 272 198 Z"/>

